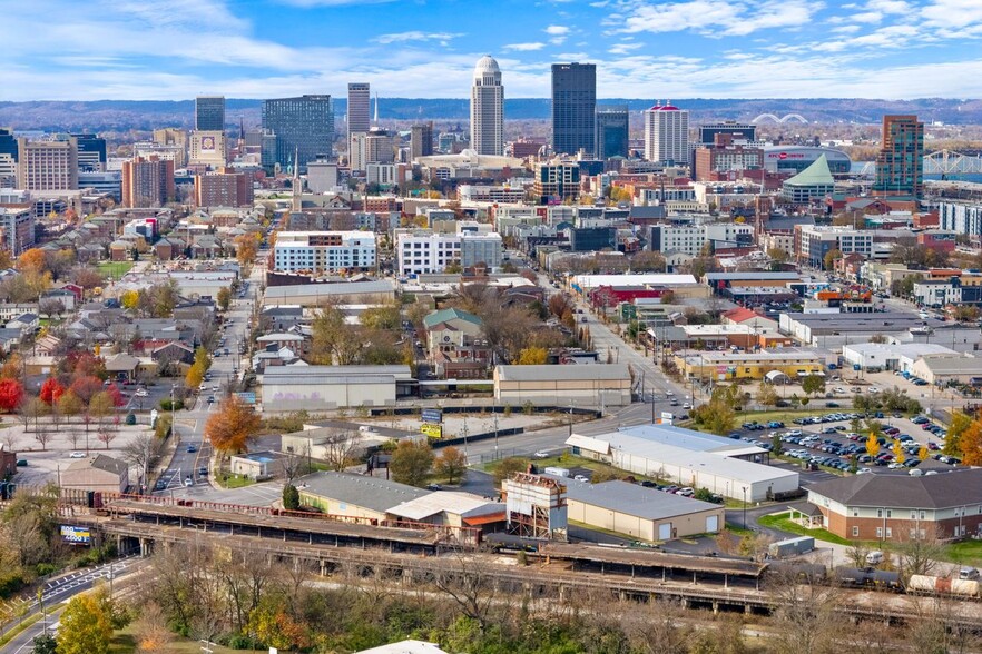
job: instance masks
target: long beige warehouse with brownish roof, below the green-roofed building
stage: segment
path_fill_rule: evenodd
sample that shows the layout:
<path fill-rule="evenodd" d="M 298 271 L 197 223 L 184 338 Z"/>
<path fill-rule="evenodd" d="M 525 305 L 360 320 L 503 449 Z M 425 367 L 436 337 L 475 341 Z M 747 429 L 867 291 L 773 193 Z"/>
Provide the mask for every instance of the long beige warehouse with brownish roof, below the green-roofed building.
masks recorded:
<path fill-rule="evenodd" d="M 631 403 L 631 374 L 626 364 L 498 366 L 494 399 L 511 406 L 627 406 Z"/>

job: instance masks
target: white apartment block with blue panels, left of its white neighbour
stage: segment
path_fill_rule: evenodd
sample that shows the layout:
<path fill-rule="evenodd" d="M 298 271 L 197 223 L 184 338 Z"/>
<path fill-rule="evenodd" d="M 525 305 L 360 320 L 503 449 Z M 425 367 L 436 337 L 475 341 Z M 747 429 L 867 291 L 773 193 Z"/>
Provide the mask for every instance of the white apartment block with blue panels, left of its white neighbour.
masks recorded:
<path fill-rule="evenodd" d="M 273 246 L 276 270 L 315 274 L 375 268 L 375 235 L 370 231 L 281 231 Z"/>

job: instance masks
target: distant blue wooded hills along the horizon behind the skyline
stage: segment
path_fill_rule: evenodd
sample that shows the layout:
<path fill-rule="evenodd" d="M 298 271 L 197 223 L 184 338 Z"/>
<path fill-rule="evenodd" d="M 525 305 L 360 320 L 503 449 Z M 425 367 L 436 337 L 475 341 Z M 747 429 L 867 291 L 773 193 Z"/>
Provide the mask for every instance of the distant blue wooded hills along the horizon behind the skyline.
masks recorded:
<path fill-rule="evenodd" d="M 927 122 L 955 125 L 982 123 L 982 100 L 927 98 L 920 100 L 868 100 L 855 98 L 815 99 L 672 99 L 672 105 L 688 109 L 693 122 L 711 120 L 750 120 L 762 113 L 783 117 L 798 113 L 809 122 L 880 122 L 884 113 L 916 113 Z M 631 111 L 642 111 L 654 103 L 648 99 L 601 99 L 601 105 L 627 105 Z M 229 99 L 226 118 L 235 125 L 239 118 L 246 127 L 261 120 L 262 100 Z M 549 119 L 548 98 L 515 98 L 505 100 L 508 120 Z M 465 98 L 422 99 L 382 98 L 383 120 L 460 120 L 467 121 L 469 101 Z M 346 98 L 334 105 L 338 122 L 347 110 Z M 194 100 L 144 101 L 99 100 L 91 102 L 35 101 L 0 102 L 0 126 L 19 130 L 80 130 L 106 132 L 146 131 L 155 127 L 190 127 Z"/>

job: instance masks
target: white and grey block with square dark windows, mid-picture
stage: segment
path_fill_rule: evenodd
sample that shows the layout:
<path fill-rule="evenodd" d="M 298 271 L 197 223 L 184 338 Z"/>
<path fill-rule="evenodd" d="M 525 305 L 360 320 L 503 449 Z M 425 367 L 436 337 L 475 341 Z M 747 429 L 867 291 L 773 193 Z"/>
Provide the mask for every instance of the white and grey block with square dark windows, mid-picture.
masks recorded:
<path fill-rule="evenodd" d="M 503 247 L 497 232 L 402 232 L 396 239 L 400 275 L 442 272 L 450 265 L 501 267 Z"/>

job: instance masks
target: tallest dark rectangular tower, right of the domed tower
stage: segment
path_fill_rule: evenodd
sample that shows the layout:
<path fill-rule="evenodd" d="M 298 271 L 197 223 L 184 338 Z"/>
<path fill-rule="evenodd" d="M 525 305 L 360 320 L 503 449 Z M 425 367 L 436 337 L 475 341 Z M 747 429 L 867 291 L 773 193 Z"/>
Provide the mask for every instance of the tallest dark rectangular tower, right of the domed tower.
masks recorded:
<path fill-rule="evenodd" d="M 593 151 L 593 118 L 597 111 L 597 66 L 552 65 L 552 149 L 576 155 Z"/>

